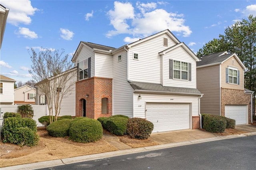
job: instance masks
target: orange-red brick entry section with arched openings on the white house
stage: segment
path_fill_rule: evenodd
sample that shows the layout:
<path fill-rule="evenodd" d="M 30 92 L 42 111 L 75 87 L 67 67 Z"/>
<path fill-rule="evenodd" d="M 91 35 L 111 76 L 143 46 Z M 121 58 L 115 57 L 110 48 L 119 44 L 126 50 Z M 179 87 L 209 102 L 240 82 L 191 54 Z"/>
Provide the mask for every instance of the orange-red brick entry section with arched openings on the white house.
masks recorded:
<path fill-rule="evenodd" d="M 107 114 L 101 113 L 102 98 L 107 98 Z M 76 82 L 76 117 L 83 116 L 83 99 L 86 101 L 86 117 L 112 116 L 112 79 L 91 77 Z"/>

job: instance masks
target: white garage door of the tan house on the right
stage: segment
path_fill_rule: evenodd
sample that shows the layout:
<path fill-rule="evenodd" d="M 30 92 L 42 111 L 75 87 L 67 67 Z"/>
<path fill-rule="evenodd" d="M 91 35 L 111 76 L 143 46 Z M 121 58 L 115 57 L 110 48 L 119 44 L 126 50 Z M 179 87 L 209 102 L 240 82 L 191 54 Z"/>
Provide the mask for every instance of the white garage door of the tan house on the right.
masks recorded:
<path fill-rule="evenodd" d="M 225 117 L 236 120 L 236 125 L 246 124 L 246 105 L 226 105 Z"/>

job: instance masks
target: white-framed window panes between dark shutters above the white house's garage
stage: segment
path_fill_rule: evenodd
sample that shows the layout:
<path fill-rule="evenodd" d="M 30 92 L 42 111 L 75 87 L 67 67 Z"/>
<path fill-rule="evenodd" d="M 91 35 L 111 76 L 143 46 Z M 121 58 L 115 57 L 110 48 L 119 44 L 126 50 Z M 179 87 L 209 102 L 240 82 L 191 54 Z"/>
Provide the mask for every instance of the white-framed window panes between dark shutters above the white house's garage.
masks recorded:
<path fill-rule="evenodd" d="M 173 78 L 188 80 L 188 63 L 182 61 L 173 61 Z"/>

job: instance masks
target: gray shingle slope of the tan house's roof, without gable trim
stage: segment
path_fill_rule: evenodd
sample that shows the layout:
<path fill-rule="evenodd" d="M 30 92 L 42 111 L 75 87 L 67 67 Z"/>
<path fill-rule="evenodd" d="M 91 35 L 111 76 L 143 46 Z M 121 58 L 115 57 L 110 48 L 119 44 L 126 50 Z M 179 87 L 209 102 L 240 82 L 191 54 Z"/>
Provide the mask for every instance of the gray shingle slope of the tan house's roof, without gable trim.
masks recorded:
<path fill-rule="evenodd" d="M 214 64 L 214 63 L 221 63 L 222 61 L 225 61 L 228 59 L 232 54 L 226 54 L 226 55 L 221 55 L 225 51 L 219 52 L 219 53 L 214 53 L 210 55 L 205 55 L 202 57 L 201 61 L 196 62 L 196 66 L 201 66 L 201 65 L 208 65 L 208 64 Z M 221 56 L 219 56 L 221 55 Z"/>

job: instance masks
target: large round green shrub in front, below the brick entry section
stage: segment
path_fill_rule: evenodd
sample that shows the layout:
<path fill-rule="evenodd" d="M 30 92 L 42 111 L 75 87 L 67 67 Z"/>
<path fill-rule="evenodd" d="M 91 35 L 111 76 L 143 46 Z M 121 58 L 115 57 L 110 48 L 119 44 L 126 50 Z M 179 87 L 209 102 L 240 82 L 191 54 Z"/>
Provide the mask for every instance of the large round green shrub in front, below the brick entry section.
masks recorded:
<path fill-rule="evenodd" d="M 73 121 L 69 129 L 70 139 L 75 142 L 95 142 L 97 140 L 100 140 L 102 138 L 102 135 L 102 125 L 99 121 L 94 119 L 79 119 Z"/>

